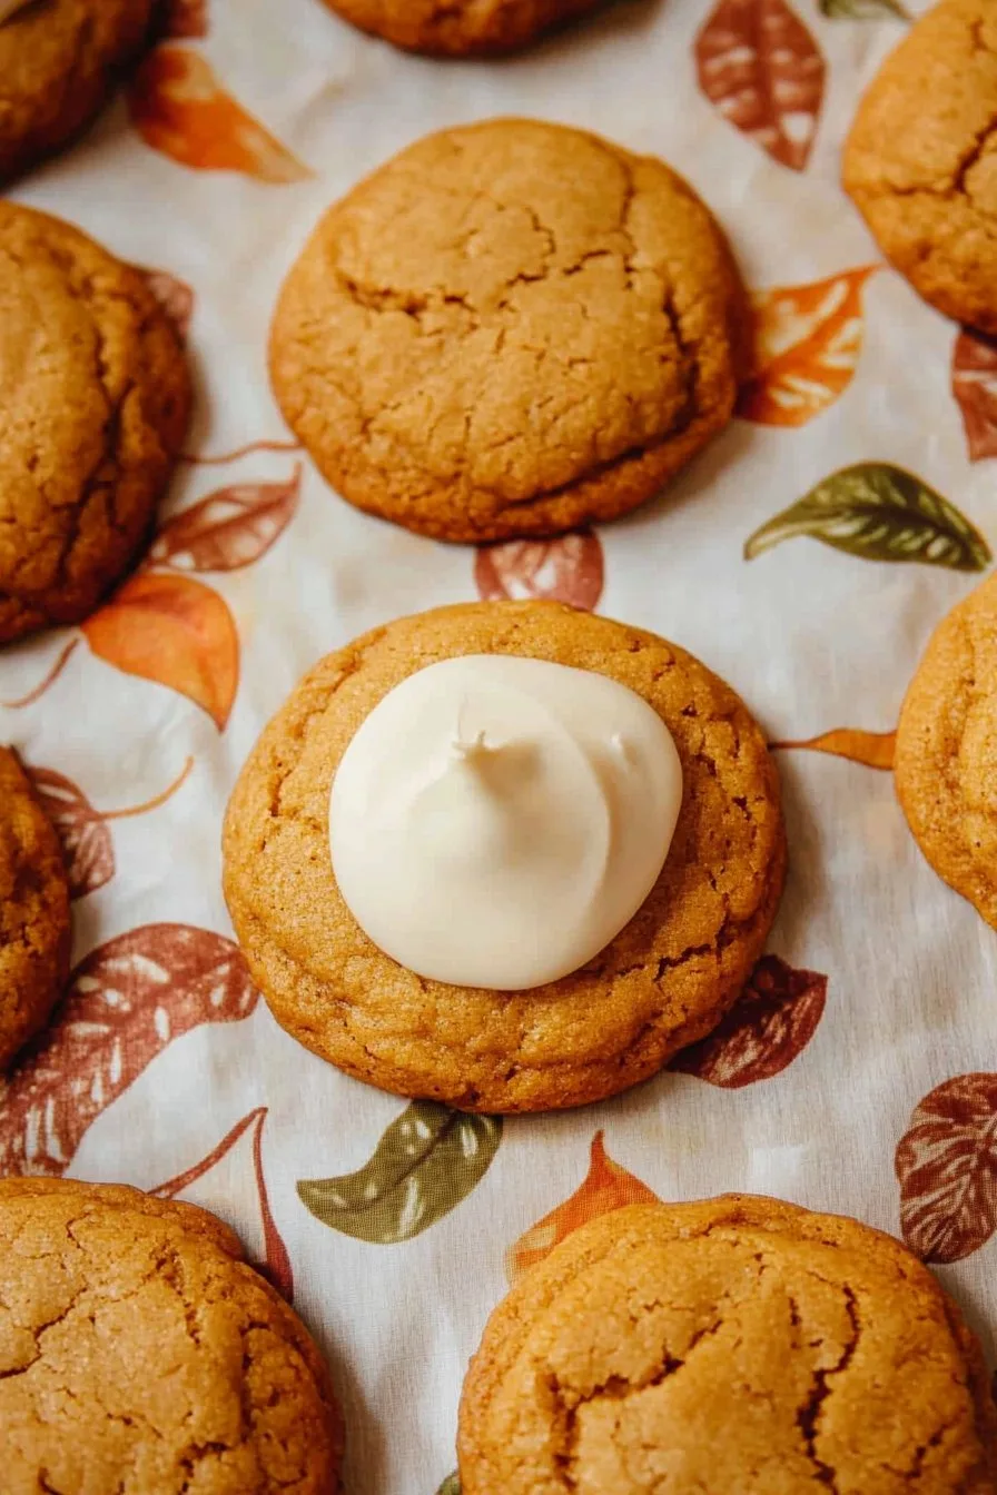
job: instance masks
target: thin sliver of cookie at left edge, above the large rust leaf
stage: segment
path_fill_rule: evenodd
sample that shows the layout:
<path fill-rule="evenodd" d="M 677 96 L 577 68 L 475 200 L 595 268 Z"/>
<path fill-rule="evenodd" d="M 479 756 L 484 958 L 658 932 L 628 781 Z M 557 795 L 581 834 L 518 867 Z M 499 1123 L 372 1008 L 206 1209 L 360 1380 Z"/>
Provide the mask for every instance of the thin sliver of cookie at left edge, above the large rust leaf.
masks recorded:
<path fill-rule="evenodd" d="M 58 1002 L 69 946 L 58 837 L 18 759 L 0 748 L 0 1069 Z"/>

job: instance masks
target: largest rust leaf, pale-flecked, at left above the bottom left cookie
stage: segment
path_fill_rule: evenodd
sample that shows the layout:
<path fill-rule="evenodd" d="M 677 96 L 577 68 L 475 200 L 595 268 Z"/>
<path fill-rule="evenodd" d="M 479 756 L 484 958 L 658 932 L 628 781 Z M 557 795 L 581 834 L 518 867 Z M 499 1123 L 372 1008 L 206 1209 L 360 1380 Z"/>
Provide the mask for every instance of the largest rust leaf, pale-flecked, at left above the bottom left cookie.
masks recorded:
<path fill-rule="evenodd" d="M 0 1177 L 61 1177 L 87 1127 L 167 1044 L 238 1023 L 257 999 L 239 948 L 212 930 L 145 924 L 99 945 L 0 1081 Z"/>

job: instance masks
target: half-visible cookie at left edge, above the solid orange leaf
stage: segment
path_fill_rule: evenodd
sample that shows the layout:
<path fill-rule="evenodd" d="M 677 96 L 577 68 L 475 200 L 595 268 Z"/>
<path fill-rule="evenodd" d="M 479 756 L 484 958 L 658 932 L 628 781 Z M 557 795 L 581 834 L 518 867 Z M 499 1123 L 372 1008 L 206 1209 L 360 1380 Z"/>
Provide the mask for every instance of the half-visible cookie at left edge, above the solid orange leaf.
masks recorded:
<path fill-rule="evenodd" d="M 0 643 L 78 622 L 121 579 L 190 401 L 142 277 L 67 223 L 0 202 Z"/>

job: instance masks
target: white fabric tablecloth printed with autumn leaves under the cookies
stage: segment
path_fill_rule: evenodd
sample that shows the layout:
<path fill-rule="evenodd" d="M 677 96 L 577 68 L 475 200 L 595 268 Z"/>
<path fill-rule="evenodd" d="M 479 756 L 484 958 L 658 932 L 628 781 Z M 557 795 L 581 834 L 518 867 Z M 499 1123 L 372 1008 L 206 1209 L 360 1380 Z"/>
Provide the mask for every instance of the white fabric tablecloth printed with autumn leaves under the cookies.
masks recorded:
<path fill-rule="evenodd" d="M 66 1000 L 0 1087 L 0 1171 L 123 1180 L 232 1221 L 332 1363 L 351 1495 L 448 1480 L 507 1281 L 631 1199 L 753 1190 L 903 1233 L 994 1351 L 997 936 L 921 858 L 888 770 L 928 634 L 997 546 L 997 347 L 918 300 L 839 185 L 858 94 L 909 22 L 898 0 L 628 0 L 463 64 L 318 0 L 173 0 L 127 93 L 13 188 L 148 271 L 197 405 L 142 571 L 0 659 L 0 736 L 75 893 Z M 752 289 L 755 371 L 658 502 L 475 552 L 329 490 L 283 426 L 266 333 L 335 197 L 419 135 L 496 114 L 685 173 Z M 791 854 L 768 954 L 714 1038 L 604 1105 L 504 1126 L 299 1048 L 220 887 L 226 798 L 299 676 L 478 595 L 561 597 L 700 655 L 777 749 Z"/>

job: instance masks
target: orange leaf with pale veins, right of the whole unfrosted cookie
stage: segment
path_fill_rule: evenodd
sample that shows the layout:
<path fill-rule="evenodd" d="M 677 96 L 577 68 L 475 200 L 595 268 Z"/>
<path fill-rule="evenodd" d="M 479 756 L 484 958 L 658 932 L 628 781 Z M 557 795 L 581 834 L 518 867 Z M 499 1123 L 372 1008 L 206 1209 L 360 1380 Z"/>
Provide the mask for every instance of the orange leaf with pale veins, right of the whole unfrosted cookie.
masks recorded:
<path fill-rule="evenodd" d="M 834 404 L 862 351 L 862 286 L 874 269 L 752 296 L 752 371 L 738 416 L 764 426 L 804 426 Z"/>

